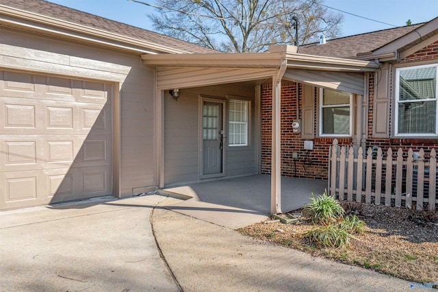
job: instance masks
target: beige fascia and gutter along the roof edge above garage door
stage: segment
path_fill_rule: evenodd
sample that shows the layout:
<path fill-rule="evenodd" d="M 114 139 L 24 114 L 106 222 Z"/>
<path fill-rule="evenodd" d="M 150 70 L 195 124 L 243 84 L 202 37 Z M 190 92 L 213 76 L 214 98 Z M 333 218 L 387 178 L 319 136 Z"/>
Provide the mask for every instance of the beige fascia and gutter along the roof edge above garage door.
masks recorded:
<path fill-rule="evenodd" d="M 152 42 L 86 27 L 77 23 L 70 23 L 48 16 L 10 8 L 5 5 L 0 5 L 0 23 L 47 34 L 68 36 L 78 40 L 94 42 L 99 45 L 109 45 L 111 47 L 118 47 L 119 49 L 127 49 L 139 53 L 189 53 L 187 51 L 157 45 Z"/>

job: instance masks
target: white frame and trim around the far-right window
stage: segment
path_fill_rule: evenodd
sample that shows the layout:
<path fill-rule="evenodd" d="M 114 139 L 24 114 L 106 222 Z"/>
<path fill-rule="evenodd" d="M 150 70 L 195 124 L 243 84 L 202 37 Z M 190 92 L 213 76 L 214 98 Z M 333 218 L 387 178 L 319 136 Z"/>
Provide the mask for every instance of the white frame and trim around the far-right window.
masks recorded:
<path fill-rule="evenodd" d="M 399 133 L 398 132 L 398 108 L 399 108 L 399 100 L 400 100 L 400 71 L 412 70 L 412 69 L 421 69 L 421 68 L 429 68 L 435 67 L 437 69 L 436 76 L 437 82 L 435 84 L 435 133 Z M 422 138 L 436 138 L 438 136 L 438 64 L 424 64 L 417 66 L 404 66 L 400 68 L 396 68 L 396 82 L 395 82 L 395 90 L 394 90 L 394 137 L 422 137 Z M 432 100 L 432 99 L 430 99 Z"/>

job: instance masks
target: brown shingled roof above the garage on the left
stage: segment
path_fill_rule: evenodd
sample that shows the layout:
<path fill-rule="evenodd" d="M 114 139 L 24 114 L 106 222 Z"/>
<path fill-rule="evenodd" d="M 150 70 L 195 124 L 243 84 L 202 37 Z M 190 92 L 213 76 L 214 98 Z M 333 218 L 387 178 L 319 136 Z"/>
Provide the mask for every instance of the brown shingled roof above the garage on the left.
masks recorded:
<path fill-rule="evenodd" d="M 111 32 L 113 34 L 136 38 L 138 40 L 147 40 L 148 42 L 153 42 L 157 45 L 177 48 L 187 51 L 188 53 L 218 53 L 218 51 L 194 45 L 190 42 L 184 42 L 177 38 L 171 38 L 169 36 L 164 36 L 163 34 L 151 32 L 125 23 L 119 23 L 117 21 L 105 19 L 101 16 L 81 12 L 73 8 L 68 8 L 43 0 L 0 0 L 0 5 L 43 16 L 49 16 L 53 19 L 68 21 L 70 23 L 99 29 L 105 32 Z"/>

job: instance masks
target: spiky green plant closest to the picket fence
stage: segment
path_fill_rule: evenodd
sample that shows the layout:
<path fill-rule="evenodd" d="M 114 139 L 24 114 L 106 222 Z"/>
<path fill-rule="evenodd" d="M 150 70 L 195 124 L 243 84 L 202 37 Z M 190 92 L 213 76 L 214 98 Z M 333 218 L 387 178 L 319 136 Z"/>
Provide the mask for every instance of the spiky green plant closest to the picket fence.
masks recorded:
<path fill-rule="evenodd" d="M 335 197 L 327 195 L 326 191 L 316 199 L 312 193 L 311 201 L 302 210 L 302 215 L 311 217 L 315 224 L 327 225 L 342 218 L 345 214 L 345 210 L 339 204 L 339 201 Z"/>

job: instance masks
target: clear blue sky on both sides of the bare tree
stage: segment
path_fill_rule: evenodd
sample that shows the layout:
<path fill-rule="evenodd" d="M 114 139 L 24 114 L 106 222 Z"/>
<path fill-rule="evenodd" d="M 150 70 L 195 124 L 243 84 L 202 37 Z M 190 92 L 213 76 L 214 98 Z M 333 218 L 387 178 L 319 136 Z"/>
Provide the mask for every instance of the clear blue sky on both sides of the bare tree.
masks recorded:
<path fill-rule="evenodd" d="M 153 30 L 147 14 L 153 8 L 129 0 L 48 0 L 107 19 Z M 155 3 L 154 0 L 142 0 Z M 438 17 L 438 0 L 324 0 L 329 11 L 344 15 L 341 36 L 424 23 Z M 335 9 L 331 9 L 335 8 Z M 342 10 L 343 12 L 339 12 Z M 348 12 L 348 13 L 347 13 Z M 355 14 L 357 16 L 353 16 Z M 361 17 L 359 17 L 361 16 Z M 372 20 L 374 21 L 372 21 Z M 385 24 L 386 23 L 386 24 Z M 394 26 L 392 26 L 394 25 Z"/>

